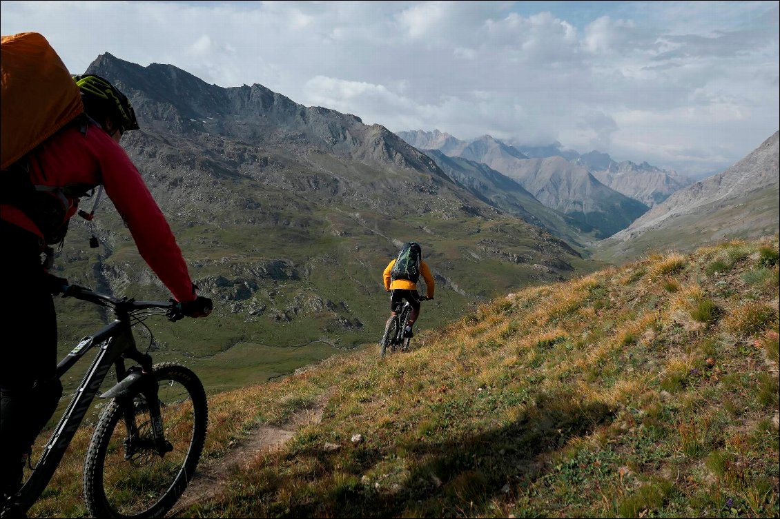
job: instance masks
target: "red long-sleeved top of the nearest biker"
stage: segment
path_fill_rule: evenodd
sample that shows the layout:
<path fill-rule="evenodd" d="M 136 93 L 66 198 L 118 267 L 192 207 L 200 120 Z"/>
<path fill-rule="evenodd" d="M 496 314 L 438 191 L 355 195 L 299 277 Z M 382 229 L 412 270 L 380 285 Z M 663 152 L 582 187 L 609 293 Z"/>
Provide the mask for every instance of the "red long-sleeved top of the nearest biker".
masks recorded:
<path fill-rule="evenodd" d="M 168 221 L 133 162 L 108 133 L 94 124 L 84 133 L 70 125 L 45 141 L 30 157 L 35 185 L 63 187 L 80 183 L 100 185 L 122 215 L 138 252 L 179 302 L 196 298 L 186 261 Z M 71 200 L 66 218 L 76 214 Z M 2 205 L 2 220 L 43 238 L 43 233 L 21 210 Z"/>

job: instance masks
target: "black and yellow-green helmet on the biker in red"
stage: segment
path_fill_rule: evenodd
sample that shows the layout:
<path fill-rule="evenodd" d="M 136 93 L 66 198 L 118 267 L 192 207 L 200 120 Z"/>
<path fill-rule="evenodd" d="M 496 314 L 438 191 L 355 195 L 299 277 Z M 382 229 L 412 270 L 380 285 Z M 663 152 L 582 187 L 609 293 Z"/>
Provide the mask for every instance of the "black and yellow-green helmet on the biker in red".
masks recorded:
<path fill-rule="evenodd" d="M 107 79 L 94 74 L 73 76 L 81 90 L 84 111 L 97 122 L 110 118 L 122 132 L 139 129 L 133 105 Z"/>

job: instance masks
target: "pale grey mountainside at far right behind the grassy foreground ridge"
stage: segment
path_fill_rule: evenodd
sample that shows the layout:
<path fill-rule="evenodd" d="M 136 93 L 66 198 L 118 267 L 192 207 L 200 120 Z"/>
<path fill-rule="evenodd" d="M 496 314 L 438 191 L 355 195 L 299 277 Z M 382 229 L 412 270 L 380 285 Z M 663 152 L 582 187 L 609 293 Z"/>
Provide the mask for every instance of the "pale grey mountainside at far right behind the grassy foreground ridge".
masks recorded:
<path fill-rule="evenodd" d="M 629 228 L 599 242 L 605 260 L 651 249 L 692 250 L 729 238 L 761 238 L 780 228 L 778 132 L 718 175 L 680 189 Z"/>

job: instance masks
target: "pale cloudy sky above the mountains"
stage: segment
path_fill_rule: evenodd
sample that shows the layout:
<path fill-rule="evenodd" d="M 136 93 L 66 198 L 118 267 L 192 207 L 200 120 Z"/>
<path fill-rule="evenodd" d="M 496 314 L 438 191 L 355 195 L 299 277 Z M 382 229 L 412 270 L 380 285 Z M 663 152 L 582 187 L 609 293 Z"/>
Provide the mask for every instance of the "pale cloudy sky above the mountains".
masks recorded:
<path fill-rule="evenodd" d="M 780 129 L 778 2 L 0 2 L 73 73 L 104 52 L 394 132 L 490 134 L 691 176 Z"/>

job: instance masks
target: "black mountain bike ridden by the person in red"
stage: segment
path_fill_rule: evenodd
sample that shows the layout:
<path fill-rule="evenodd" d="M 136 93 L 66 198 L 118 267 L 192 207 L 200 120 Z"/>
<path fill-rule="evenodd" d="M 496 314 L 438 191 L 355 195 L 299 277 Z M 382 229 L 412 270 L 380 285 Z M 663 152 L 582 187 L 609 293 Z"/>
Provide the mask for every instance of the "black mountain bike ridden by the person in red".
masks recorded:
<path fill-rule="evenodd" d="M 25 514 L 41 496 L 112 365 L 118 382 L 99 396 L 112 400 L 95 425 L 84 461 L 87 510 L 92 517 L 161 517 L 179 500 L 200 459 L 206 393 L 195 373 L 183 365 L 153 365 L 148 348 L 145 353 L 137 349 L 133 327 L 148 316 L 176 321 L 183 313 L 175 302 L 115 298 L 76 285 L 63 297 L 108 307 L 115 320 L 84 337 L 58 363 L 62 379 L 87 351 L 97 348 L 27 482 L 2 504 L 2 517 Z M 151 330 L 149 334 L 151 347 Z M 126 359 L 136 364 L 126 368 Z"/>

